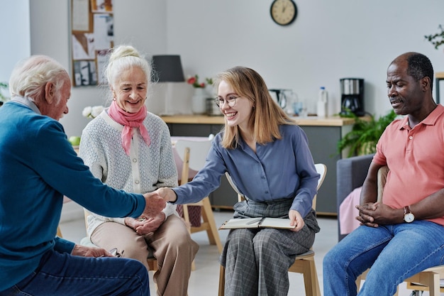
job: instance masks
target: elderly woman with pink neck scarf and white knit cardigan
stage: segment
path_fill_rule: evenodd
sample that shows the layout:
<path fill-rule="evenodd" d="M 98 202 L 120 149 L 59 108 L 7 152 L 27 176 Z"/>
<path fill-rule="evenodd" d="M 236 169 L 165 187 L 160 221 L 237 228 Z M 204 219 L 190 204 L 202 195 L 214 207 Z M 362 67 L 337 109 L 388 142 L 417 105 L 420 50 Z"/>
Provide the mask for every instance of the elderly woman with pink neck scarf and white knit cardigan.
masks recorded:
<path fill-rule="evenodd" d="M 151 68 L 135 48 L 121 45 L 109 57 L 106 77 L 111 106 L 82 133 L 79 155 L 102 182 L 128 192 L 152 192 L 177 185 L 170 131 L 147 111 Z M 142 220 L 142 221 L 141 221 Z M 152 251 L 158 268 L 157 295 L 187 295 L 191 265 L 199 245 L 172 204 L 150 219 L 111 219 L 91 213 L 88 235 L 97 246 L 123 251 L 148 269 Z"/>

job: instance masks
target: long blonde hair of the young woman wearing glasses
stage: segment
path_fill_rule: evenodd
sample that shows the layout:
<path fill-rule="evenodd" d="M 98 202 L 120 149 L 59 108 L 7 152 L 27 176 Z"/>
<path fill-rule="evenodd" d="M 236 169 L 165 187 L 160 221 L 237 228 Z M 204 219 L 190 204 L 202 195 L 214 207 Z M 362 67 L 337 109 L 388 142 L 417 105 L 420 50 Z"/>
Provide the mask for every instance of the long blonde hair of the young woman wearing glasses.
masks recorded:
<path fill-rule="evenodd" d="M 232 67 L 216 76 L 214 82 L 216 89 L 221 81 L 230 84 L 240 97 L 245 97 L 252 102 L 253 109 L 250 119 L 248 119 L 248 128 L 250 128 L 250 132 L 257 143 L 264 145 L 282 138 L 279 125 L 296 124 L 273 101 L 270 92 L 268 92 L 267 84 L 255 70 L 248 67 Z M 225 121 L 222 138 L 223 148 L 233 149 L 238 146 L 239 141 L 239 127 L 228 126 L 227 121 Z"/>

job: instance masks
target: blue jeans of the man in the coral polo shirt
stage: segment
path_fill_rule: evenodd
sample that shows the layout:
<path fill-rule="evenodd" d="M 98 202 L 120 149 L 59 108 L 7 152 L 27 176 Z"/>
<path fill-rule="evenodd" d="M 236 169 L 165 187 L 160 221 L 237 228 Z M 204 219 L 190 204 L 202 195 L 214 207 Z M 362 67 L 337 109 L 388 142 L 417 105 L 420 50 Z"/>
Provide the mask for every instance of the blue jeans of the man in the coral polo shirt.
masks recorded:
<path fill-rule="evenodd" d="M 324 296 L 357 295 L 356 278 L 370 268 L 359 295 L 394 295 L 406 278 L 444 263 L 444 226 L 410 224 L 359 226 L 323 259 Z"/>

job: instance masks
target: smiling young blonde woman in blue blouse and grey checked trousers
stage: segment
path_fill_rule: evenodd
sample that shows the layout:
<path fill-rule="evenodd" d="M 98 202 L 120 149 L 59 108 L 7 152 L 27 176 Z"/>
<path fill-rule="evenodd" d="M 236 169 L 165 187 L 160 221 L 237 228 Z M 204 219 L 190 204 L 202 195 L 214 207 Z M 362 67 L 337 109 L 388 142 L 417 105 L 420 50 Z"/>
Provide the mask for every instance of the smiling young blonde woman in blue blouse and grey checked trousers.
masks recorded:
<path fill-rule="evenodd" d="M 319 175 L 302 129 L 272 100 L 262 77 L 233 67 L 216 77 L 216 104 L 225 128 L 213 140 L 205 167 L 192 182 L 157 192 L 174 204 L 197 202 L 225 172 L 246 200 L 235 218 L 287 217 L 287 229 L 234 229 L 221 256 L 226 295 L 287 295 L 288 268 L 309 251 L 319 227 L 311 208 Z"/>

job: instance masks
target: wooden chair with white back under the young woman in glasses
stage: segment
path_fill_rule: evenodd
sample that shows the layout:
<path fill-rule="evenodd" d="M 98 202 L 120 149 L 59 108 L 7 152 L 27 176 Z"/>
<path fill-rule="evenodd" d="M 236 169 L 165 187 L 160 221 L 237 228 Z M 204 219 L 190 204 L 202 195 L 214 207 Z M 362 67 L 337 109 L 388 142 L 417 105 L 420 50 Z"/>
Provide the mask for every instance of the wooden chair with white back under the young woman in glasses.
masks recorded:
<path fill-rule="evenodd" d="M 322 185 L 326 177 L 327 167 L 323 163 L 316 163 L 316 171 L 321 175 L 318 180 L 318 187 Z M 228 182 L 230 182 L 233 189 L 238 192 L 239 201 L 243 200 L 243 194 L 238 191 L 234 185 L 231 176 L 226 173 Z M 316 195 L 313 197 L 313 209 L 316 209 Z M 290 266 L 290 273 L 301 273 L 304 275 L 305 295 L 306 296 L 321 296 L 321 289 L 319 288 L 318 273 L 316 272 L 316 264 L 314 262 L 314 251 L 311 249 L 306 253 L 296 256 L 294 263 Z M 225 268 L 221 265 L 219 273 L 219 296 L 223 296 L 225 292 Z"/>

